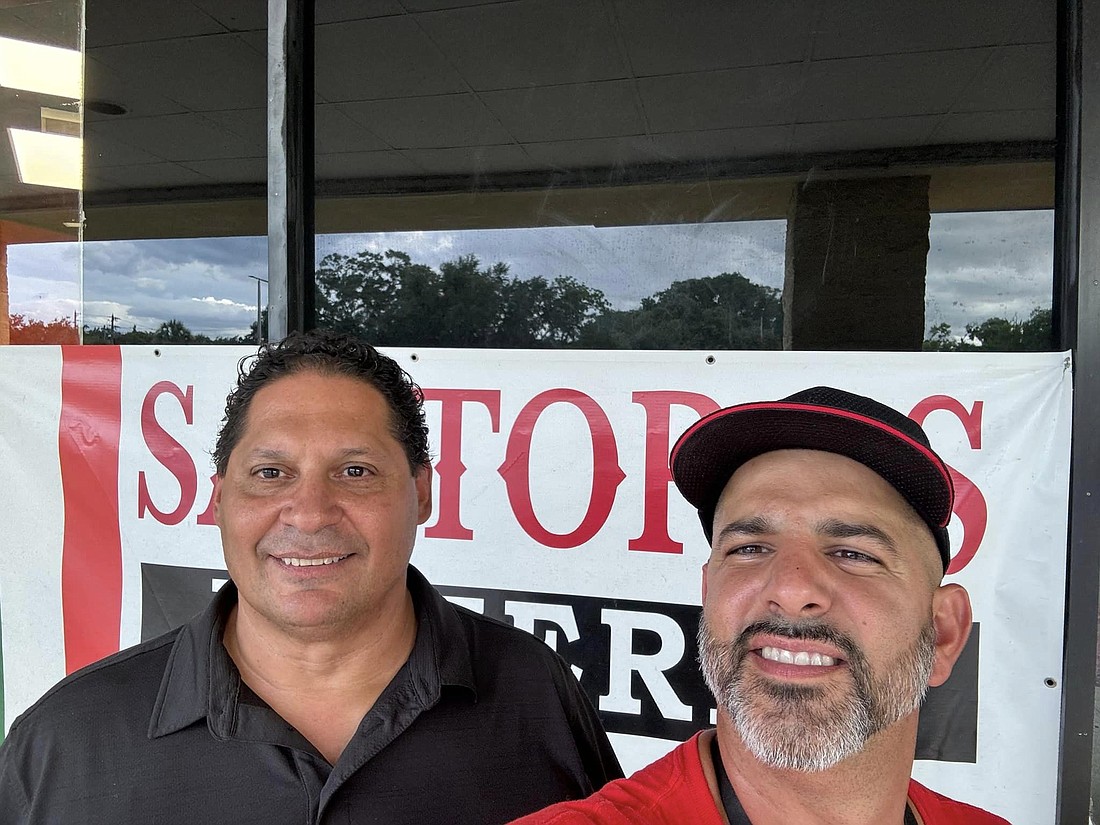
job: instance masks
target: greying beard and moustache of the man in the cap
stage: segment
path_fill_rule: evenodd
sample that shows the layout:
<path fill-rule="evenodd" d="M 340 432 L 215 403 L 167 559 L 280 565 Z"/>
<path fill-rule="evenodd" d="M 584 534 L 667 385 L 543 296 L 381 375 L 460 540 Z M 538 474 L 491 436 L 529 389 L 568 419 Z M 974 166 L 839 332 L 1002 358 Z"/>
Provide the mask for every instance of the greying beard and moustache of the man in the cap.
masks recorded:
<path fill-rule="evenodd" d="M 837 696 L 835 690 L 781 684 L 749 673 L 748 639 L 761 632 L 825 641 L 844 651 L 851 688 Z M 930 619 L 915 644 L 886 673 L 876 674 L 851 639 L 822 622 L 757 622 L 727 644 L 714 637 L 701 616 L 698 661 L 718 706 L 757 759 L 772 768 L 823 771 L 858 754 L 875 734 L 921 706 L 935 639 Z"/>

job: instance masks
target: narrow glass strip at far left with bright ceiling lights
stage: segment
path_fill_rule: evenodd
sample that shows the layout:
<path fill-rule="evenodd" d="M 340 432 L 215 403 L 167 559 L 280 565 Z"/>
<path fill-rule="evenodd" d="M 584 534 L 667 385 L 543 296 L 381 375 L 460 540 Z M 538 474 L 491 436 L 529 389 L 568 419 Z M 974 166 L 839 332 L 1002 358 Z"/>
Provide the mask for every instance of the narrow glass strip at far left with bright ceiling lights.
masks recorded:
<path fill-rule="evenodd" d="M 78 338 L 81 29 L 79 0 L 0 7 L 0 344 Z"/>

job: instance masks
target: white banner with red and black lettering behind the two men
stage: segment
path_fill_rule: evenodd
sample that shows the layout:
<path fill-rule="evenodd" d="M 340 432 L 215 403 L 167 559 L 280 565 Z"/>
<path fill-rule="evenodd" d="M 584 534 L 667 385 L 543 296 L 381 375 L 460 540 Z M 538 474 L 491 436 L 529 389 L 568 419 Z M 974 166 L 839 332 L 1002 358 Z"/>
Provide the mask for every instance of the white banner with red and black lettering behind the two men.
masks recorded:
<path fill-rule="evenodd" d="M 210 450 L 235 348 L 0 348 L 4 724 L 224 579 Z M 922 713 L 917 779 L 1053 822 L 1067 354 L 389 350 L 425 388 L 436 513 L 413 561 L 573 664 L 629 772 L 711 724 L 695 513 L 668 453 L 719 406 L 818 384 L 921 421 L 959 492 L 948 579 L 975 632 Z"/>

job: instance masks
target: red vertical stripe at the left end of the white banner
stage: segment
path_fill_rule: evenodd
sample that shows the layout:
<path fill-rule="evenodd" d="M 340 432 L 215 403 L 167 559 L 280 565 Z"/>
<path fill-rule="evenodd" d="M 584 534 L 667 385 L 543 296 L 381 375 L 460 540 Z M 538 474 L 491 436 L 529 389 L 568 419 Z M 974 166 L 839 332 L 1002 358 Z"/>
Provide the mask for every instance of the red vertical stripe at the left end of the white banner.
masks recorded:
<path fill-rule="evenodd" d="M 65 495 L 62 614 L 67 673 L 119 649 L 121 429 L 120 349 L 63 346 L 57 447 Z"/>

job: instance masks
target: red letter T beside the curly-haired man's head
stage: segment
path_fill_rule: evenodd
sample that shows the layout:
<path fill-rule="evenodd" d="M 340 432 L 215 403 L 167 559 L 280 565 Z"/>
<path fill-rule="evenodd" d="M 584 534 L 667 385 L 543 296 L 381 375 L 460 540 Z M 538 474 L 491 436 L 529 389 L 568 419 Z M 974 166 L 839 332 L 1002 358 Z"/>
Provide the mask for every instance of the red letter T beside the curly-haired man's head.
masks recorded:
<path fill-rule="evenodd" d="M 425 389 L 426 402 L 442 404 L 442 419 L 439 431 L 439 501 L 436 503 L 439 518 L 424 535 L 431 539 L 461 539 L 470 541 L 474 531 L 462 524 L 462 474 L 466 465 L 462 463 L 462 405 L 465 402 L 482 404 L 488 410 L 493 432 L 501 431 L 499 389 Z"/>

